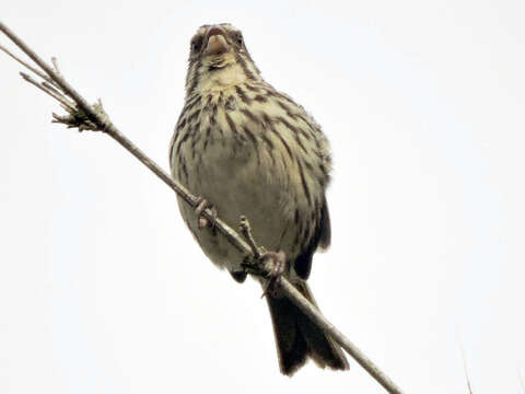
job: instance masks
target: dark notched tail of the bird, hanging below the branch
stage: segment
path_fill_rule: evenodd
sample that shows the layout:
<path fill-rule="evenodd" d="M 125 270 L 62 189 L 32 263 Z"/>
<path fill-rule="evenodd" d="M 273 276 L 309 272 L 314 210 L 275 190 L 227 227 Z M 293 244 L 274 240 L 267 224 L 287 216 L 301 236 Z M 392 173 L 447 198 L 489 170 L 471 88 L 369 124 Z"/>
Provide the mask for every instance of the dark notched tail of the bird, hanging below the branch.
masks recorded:
<path fill-rule="evenodd" d="M 299 291 L 316 308 L 306 282 L 295 283 Z M 281 372 L 291 376 L 311 358 L 320 368 L 347 370 L 348 361 L 341 348 L 285 297 L 267 296 L 276 334 Z"/>

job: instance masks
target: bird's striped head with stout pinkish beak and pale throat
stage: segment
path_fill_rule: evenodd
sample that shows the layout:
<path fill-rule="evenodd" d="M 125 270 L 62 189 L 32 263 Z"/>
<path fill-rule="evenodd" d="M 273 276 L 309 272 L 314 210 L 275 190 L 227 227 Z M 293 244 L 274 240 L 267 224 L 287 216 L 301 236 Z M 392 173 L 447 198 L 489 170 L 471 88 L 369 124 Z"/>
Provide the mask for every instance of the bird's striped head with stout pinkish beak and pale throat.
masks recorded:
<path fill-rule="evenodd" d="M 229 23 L 199 27 L 190 42 L 187 96 L 258 80 L 241 31 Z"/>

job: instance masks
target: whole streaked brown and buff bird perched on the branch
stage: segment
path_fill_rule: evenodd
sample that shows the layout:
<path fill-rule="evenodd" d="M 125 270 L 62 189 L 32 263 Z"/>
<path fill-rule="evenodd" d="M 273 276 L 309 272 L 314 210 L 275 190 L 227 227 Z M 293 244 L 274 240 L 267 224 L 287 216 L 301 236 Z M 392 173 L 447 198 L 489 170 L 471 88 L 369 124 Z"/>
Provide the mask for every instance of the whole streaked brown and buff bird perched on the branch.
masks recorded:
<path fill-rule="evenodd" d="M 198 209 L 178 198 L 187 227 L 212 263 L 244 282 L 246 256 L 196 210 L 211 208 L 231 227 L 246 216 L 257 244 L 285 256 L 282 275 L 318 308 L 306 280 L 314 253 L 330 244 L 331 157 L 320 126 L 262 79 L 229 23 L 202 25 L 192 36 L 185 91 L 170 166 L 199 196 Z M 281 373 L 293 375 L 308 359 L 349 368 L 341 348 L 287 297 L 272 291 L 266 299 Z"/>

